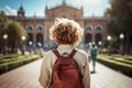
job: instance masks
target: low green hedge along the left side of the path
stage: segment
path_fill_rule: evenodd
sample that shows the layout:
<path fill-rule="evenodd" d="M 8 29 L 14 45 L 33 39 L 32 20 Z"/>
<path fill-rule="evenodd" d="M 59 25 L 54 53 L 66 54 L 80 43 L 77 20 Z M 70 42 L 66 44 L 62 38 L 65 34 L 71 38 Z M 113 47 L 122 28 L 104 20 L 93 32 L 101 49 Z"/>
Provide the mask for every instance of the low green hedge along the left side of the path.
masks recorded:
<path fill-rule="evenodd" d="M 40 55 L 29 55 L 29 56 L 9 55 L 6 57 L 8 58 L 4 58 L 4 56 L 3 57 L 0 56 L 0 74 L 3 74 L 8 70 L 14 69 L 19 66 L 38 59 Z"/>

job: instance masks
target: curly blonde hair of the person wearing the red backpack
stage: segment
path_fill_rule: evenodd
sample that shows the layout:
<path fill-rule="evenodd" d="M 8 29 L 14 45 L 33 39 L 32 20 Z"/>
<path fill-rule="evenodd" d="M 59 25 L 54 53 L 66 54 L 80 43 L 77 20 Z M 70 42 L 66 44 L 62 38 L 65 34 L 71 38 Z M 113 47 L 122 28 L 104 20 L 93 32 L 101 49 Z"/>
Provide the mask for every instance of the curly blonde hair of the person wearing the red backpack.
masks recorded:
<path fill-rule="evenodd" d="M 73 20 L 56 18 L 54 25 L 50 29 L 50 34 L 57 44 L 75 45 L 80 41 L 84 29 Z"/>

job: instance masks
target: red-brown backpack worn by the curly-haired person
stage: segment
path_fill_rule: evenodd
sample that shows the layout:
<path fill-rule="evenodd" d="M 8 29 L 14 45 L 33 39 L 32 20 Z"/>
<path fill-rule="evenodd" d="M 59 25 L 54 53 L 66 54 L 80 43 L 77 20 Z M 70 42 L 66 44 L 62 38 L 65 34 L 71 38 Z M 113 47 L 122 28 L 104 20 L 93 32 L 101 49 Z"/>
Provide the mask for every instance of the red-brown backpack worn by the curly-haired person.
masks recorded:
<path fill-rule="evenodd" d="M 50 88 L 82 88 L 81 75 L 77 63 L 73 56 L 76 54 L 76 50 L 73 50 L 68 56 L 62 56 L 55 50 L 53 53 L 57 56 L 57 59 L 53 66 L 53 76 Z"/>

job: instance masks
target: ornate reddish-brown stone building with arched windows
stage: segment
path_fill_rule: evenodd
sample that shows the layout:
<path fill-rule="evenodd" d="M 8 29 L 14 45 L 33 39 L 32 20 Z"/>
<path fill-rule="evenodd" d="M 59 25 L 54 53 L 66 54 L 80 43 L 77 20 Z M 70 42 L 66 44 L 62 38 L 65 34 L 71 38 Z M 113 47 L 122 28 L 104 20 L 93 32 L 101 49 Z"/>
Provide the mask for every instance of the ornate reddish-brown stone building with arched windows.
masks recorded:
<path fill-rule="evenodd" d="M 18 16 L 9 16 L 12 20 L 21 22 L 29 34 L 26 46 L 34 47 L 52 47 L 53 42 L 50 40 L 48 30 L 54 23 L 55 18 L 68 18 L 77 21 L 85 30 L 85 35 L 80 44 L 88 45 L 91 42 L 98 44 L 107 35 L 107 22 L 102 18 L 85 18 L 82 8 L 74 8 L 66 4 L 65 1 L 61 6 L 48 9 L 45 7 L 45 18 L 25 16 L 23 7 L 18 10 Z"/>

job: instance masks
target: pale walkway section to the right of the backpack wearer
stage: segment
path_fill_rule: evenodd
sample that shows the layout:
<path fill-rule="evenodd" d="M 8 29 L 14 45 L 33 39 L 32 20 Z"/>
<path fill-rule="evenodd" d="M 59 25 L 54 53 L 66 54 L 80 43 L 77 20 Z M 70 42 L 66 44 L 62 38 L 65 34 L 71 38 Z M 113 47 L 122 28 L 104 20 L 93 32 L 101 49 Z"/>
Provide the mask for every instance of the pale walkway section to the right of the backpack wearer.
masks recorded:
<path fill-rule="evenodd" d="M 91 88 L 132 88 L 132 78 L 97 63 L 97 72 L 91 74 Z"/>

